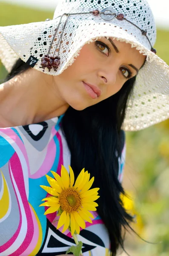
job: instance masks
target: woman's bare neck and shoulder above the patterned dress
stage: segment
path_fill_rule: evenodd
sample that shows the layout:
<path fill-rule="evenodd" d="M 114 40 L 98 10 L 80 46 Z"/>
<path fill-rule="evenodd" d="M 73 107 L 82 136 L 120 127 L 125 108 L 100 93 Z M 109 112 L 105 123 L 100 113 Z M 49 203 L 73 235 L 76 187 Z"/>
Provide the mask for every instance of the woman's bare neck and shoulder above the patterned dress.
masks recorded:
<path fill-rule="evenodd" d="M 28 125 L 60 116 L 69 105 L 53 76 L 30 68 L 0 85 L 0 127 Z"/>

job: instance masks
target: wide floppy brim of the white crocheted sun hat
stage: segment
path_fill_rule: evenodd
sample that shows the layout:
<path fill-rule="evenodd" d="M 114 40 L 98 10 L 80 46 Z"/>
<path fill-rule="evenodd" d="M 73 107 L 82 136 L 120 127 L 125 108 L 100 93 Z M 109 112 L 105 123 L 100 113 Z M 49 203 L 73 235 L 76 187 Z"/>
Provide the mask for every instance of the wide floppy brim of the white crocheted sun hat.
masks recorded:
<path fill-rule="evenodd" d="M 37 23 L 0 27 L 0 59 L 6 70 L 10 72 L 15 61 L 20 57 L 33 64 L 36 70 L 43 72 L 41 58 L 47 54 L 60 17 Z M 66 17 L 63 19 L 66 20 Z M 64 22 L 60 25 L 52 44 L 51 56 L 58 43 Z M 91 29 L 92 28 L 92 29 Z M 58 36 L 59 35 L 59 36 Z M 146 55 L 146 63 L 139 71 L 132 96 L 130 97 L 123 123 L 125 131 L 137 131 L 169 118 L 169 66 L 145 47 L 134 35 L 123 30 L 114 23 L 99 22 L 88 19 L 71 18 L 66 24 L 60 47 L 60 67 L 57 71 L 46 68 L 45 73 L 59 75 L 78 56 L 80 49 L 86 44 L 101 37 L 111 37 L 136 47 Z M 57 49 L 58 51 L 58 49 Z M 56 51 L 56 55 L 57 55 Z M 33 67 L 32 66 L 32 67 Z"/>

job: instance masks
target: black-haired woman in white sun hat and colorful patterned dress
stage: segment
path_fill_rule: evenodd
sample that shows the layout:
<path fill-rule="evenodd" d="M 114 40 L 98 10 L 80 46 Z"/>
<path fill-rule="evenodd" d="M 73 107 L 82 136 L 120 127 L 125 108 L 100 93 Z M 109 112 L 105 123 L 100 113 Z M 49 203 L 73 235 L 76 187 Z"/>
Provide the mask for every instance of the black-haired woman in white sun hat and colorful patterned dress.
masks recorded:
<path fill-rule="evenodd" d="M 65 13 L 66 12 L 66 13 Z M 0 27 L 0 255 L 61 255 L 74 244 L 39 207 L 50 170 L 85 167 L 99 187 L 84 256 L 117 254 L 124 131 L 169 116 L 169 67 L 155 53 L 146 0 L 63 0 L 53 20 Z M 68 169 L 68 168 L 67 168 Z"/>

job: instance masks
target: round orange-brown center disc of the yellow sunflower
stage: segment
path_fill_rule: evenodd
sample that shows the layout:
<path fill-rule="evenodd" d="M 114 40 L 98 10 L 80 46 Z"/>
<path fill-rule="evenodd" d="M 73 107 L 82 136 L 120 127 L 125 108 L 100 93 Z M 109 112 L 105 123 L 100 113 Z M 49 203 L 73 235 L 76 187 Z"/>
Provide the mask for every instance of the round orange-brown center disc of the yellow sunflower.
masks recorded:
<path fill-rule="evenodd" d="M 82 205 L 80 194 L 74 188 L 63 189 L 58 198 L 61 209 L 69 213 L 77 211 Z"/>

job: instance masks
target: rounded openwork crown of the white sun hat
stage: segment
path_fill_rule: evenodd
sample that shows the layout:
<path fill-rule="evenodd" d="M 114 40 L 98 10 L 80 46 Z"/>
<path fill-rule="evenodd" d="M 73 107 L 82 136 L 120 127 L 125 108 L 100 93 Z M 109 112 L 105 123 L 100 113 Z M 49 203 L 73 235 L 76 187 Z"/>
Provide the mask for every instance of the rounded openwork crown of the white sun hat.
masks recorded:
<path fill-rule="evenodd" d="M 156 41 L 156 25 L 152 10 L 146 0 L 60 0 L 55 12 L 54 17 L 66 13 L 81 13 L 90 12 L 91 10 L 102 10 L 104 8 L 111 7 L 118 13 L 126 15 L 126 19 L 137 25 L 140 29 L 147 31 L 147 36 L 154 46 Z M 72 17 L 72 15 L 71 15 Z M 92 15 L 74 15 L 74 19 L 91 20 L 94 19 Z M 101 17 L 95 17 L 96 22 L 103 22 Z M 129 24 L 125 20 L 113 19 L 106 21 L 120 26 L 121 29 L 127 31 L 130 35 L 134 35 L 141 44 L 148 49 L 151 49 L 151 45 L 147 41 L 141 32 L 132 24 Z"/>

